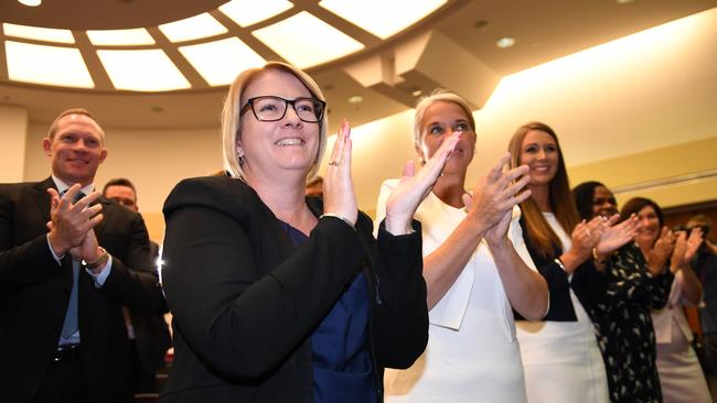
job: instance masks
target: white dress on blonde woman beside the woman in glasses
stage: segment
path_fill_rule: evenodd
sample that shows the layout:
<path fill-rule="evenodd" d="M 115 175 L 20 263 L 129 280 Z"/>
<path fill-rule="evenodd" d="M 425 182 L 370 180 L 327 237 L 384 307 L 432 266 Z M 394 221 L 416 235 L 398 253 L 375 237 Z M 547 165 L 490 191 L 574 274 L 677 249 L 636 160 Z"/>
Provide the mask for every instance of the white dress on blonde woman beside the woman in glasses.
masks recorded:
<path fill-rule="evenodd" d="M 387 181 L 382 187 L 377 222 L 396 183 Z M 438 248 L 464 217 L 463 209 L 429 194 L 416 213 L 422 225 L 424 255 Z M 517 218 L 512 222 L 515 227 L 520 230 Z M 407 370 L 386 370 L 386 402 L 526 402 L 513 313 L 484 241 L 429 316 L 424 355 Z"/>

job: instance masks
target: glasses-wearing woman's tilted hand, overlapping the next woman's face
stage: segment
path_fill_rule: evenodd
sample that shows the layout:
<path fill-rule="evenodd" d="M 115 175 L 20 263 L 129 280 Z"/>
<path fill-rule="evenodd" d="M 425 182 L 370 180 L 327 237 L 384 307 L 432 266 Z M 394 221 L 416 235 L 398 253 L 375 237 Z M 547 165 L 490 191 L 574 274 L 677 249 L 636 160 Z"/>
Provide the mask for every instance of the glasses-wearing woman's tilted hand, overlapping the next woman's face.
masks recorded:
<path fill-rule="evenodd" d="M 410 232 L 410 222 L 418 205 L 432 189 L 461 134 L 462 132 L 458 131 L 443 140 L 434 156 L 418 172 L 413 160 L 406 163 L 398 186 L 386 202 L 385 224 L 388 232 L 393 235 Z"/>

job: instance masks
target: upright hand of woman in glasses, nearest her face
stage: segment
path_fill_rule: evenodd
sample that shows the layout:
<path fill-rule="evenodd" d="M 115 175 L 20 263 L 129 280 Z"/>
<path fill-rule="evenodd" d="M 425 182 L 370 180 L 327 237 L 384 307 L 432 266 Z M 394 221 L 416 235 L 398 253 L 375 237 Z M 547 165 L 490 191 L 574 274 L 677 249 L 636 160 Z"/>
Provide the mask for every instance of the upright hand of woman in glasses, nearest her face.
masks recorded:
<path fill-rule="evenodd" d="M 345 219 L 352 226 L 358 219 L 356 194 L 351 178 L 351 127 L 341 123 L 323 179 L 323 211 Z"/>

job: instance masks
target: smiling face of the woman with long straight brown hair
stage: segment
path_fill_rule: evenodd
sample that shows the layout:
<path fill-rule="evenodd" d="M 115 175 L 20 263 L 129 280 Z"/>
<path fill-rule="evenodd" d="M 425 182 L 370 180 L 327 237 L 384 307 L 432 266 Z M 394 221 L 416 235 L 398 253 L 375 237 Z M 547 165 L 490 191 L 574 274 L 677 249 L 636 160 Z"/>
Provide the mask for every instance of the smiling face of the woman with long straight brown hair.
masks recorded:
<path fill-rule="evenodd" d="M 518 164 L 531 167 L 531 185 L 546 186 L 558 170 L 559 155 L 555 139 L 542 131 L 531 130 L 523 138 Z"/>

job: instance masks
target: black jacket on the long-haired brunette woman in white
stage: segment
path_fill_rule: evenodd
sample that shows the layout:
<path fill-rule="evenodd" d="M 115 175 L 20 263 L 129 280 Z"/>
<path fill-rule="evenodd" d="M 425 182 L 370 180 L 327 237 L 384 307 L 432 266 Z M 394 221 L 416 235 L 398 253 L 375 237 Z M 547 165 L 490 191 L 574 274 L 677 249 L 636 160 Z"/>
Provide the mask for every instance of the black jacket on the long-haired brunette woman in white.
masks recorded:
<path fill-rule="evenodd" d="M 533 263 L 537 271 L 545 277 L 548 284 L 548 292 L 550 293 L 549 309 L 547 315 L 541 320 L 556 320 L 556 322 L 576 322 L 578 320 L 575 314 L 575 306 L 570 299 L 570 288 L 585 307 L 586 312 L 595 320 L 595 308 L 597 304 L 604 297 L 608 285 L 608 276 L 599 272 L 592 259 L 588 259 L 585 263 L 580 264 L 578 269 L 572 272 L 572 277 L 568 280 L 568 274 L 555 259 L 543 257 L 538 249 L 533 244 L 531 238 L 527 236 L 527 227 L 525 219 L 521 217 L 521 228 L 523 229 L 523 239 L 527 248 Z M 554 253 L 556 257 L 563 254 L 563 248 L 554 246 Z M 514 311 L 516 319 L 524 320 L 517 312 Z"/>

